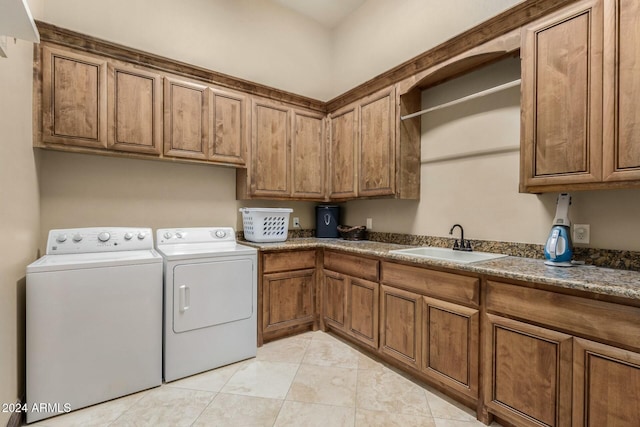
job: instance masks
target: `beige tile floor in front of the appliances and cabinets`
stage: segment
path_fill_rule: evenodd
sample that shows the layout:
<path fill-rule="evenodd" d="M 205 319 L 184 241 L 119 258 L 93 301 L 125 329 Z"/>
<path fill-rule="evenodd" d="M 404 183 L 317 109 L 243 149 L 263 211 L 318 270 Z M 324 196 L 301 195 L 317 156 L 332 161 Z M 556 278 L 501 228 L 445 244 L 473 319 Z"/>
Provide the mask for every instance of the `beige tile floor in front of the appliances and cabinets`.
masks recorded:
<path fill-rule="evenodd" d="M 32 426 L 483 426 L 474 413 L 323 332 Z M 493 424 L 497 426 L 497 424 Z"/>

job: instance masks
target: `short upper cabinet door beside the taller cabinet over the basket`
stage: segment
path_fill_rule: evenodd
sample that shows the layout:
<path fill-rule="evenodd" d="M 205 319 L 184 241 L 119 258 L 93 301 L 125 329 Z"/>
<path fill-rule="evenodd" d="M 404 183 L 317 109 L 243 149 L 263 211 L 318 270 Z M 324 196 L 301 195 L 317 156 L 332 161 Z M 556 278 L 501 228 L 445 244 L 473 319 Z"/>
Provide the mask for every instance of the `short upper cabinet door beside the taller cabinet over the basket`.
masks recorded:
<path fill-rule="evenodd" d="M 211 143 L 209 158 L 214 162 L 244 166 L 249 133 L 247 97 L 231 91 L 210 89 Z"/>

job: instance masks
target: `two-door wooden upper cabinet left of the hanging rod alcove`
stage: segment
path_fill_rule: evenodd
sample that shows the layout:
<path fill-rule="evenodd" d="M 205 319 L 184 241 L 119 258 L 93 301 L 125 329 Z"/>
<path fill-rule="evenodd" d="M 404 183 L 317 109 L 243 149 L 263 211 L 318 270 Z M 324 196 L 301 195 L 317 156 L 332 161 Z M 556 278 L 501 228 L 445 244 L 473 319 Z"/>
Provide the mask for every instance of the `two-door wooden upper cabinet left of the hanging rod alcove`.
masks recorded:
<path fill-rule="evenodd" d="M 420 198 L 420 93 L 390 86 L 329 115 L 329 198 Z"/>

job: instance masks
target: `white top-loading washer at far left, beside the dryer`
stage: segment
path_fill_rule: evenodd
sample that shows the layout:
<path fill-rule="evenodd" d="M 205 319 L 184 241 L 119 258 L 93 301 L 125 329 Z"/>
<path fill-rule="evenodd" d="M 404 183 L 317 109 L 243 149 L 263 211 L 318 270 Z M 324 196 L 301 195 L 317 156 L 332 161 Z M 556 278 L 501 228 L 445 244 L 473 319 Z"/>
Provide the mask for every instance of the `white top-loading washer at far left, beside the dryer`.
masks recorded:
<path fill-rule="evenodd" d="M 150 228 L 51 230 L 26 289 L 27 422 L 162 384 Z"/>

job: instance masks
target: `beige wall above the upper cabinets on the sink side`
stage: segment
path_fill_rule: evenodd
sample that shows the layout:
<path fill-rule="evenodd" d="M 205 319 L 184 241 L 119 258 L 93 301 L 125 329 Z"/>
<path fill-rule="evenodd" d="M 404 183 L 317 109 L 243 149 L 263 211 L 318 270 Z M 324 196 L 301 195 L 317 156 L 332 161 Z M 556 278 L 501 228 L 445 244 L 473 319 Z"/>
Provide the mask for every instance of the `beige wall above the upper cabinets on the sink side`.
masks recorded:
<path fill-rule="evenodd" d="M 334 30 L 338 96 L 521 0 L 368 0 Z"/>

